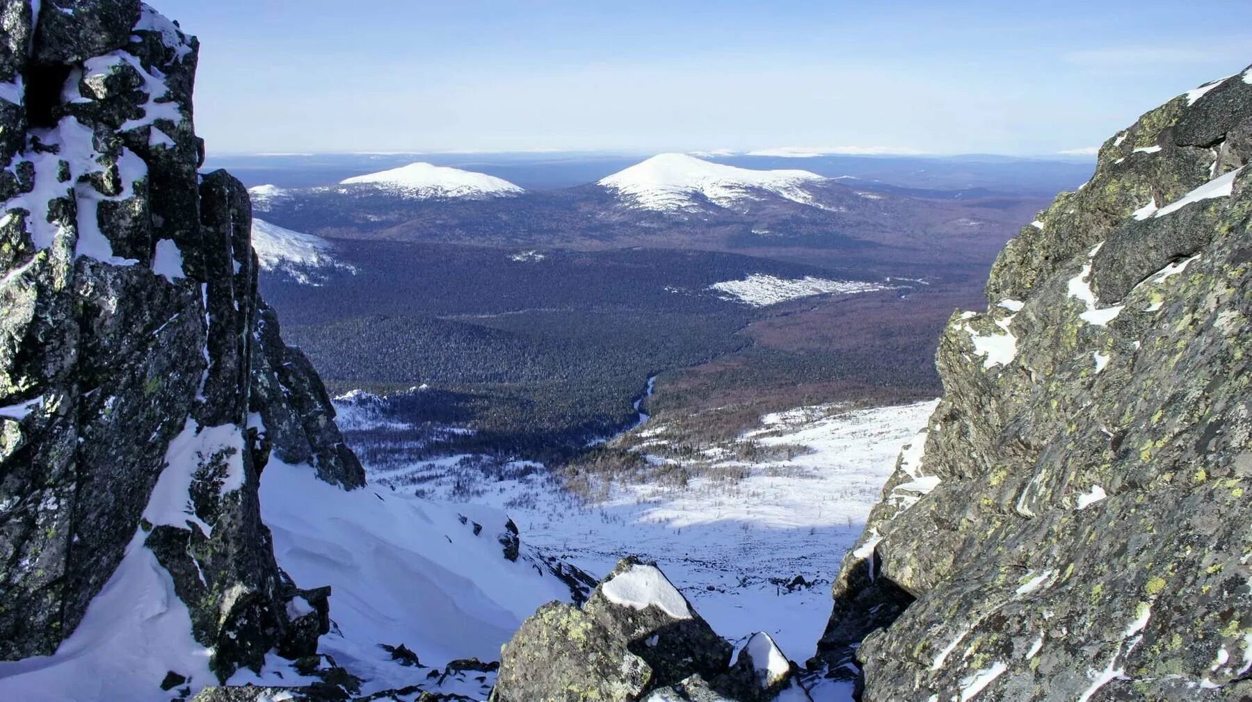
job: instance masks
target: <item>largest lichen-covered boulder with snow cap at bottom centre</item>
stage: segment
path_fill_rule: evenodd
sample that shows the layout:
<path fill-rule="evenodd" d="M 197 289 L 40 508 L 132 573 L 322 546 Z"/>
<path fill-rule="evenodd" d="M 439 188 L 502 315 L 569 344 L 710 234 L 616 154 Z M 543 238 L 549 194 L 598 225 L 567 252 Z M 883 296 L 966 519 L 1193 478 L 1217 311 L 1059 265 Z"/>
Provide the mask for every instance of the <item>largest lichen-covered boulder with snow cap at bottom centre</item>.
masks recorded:
<path fill-rule="evenodd" d="M 661 571 L 623 559 L 582 607 L 552 602 L 501 651 L 497 702 L 627 701 L 727 672 L 731 646 Z"/>

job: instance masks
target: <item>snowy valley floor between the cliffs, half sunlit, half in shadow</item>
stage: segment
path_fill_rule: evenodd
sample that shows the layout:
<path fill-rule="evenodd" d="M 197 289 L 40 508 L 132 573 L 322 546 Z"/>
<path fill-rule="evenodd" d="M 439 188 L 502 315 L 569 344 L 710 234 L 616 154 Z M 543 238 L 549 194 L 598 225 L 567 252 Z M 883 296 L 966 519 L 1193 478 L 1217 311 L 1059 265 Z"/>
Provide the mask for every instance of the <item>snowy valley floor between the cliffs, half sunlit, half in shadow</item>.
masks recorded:
<path fill-rule="evenodd" d="M 371 481 L 408 491 L 419 486 L 433 499 L 501 508 L 527 544 L 596 577 L 623 556 L 656 561 L 717 633 L 744 642 L 764 631 L 788 657 L 805 661 L 830 614 L 830 578 L 881 497 L 900 448 L 918 435 L 934 407 L 923 402 L 849 412 L 819 405 L 769 414 L 744 438 L 779 447 L 781 457 L 719 462 L 745 472 L 744 479 L 705 474 L 685 487 L 613 482 L 590 506 L 543 471 L 485 482 L 481 473 L 457 471 L 461 457 L 366 468 Z M 636 429 L 637 435 L 657 435 L 655 422 Z M 794 448 L 791 459 L 785 458 L 788 447 Z M 471 494 L 467 482 L 475 486 Z M 287 567 L 282 556 L 279 564 Z M 297 582 L 324 582 L 293 574 Z M 785 584 L 795 576 L 811 587 L 789 591 Z"/>

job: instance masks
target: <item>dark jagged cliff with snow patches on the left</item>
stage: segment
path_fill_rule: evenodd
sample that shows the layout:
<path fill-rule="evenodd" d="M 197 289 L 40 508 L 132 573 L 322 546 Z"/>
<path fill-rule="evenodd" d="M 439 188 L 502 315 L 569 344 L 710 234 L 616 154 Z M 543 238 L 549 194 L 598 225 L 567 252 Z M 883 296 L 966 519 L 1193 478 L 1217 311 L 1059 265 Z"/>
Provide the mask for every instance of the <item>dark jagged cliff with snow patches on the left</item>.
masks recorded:
<path fill-rule="evenodd" d="M 136 0 L 0 0 L 0 658 L 51 654 L 124 558 L 219 677 L 312 653 L 326 592 L 275 564 L 259 474 L 364 474 L 257 294 L 245 189 L 198 171 L 198 43 Z"/>

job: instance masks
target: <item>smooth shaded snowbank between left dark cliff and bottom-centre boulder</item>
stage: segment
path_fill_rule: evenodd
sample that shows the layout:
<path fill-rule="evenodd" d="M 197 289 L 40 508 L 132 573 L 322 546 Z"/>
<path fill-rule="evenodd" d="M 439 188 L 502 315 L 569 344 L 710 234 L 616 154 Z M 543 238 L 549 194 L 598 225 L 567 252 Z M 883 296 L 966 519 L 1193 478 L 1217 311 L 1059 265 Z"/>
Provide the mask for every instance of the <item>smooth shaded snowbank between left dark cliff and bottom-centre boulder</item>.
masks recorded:
<path fill-rule="evenodd" d="M 517 562 L 505 558 L 498 536 L 507 518 L 490 507 L 379 486 L 344 492 L 307 465 L 270 458 L 260 512 L 279 567 L 307 587 L 332 586 L 338 628 L 322 637 L 321 652 L 364 677 L 366 693 L 424 679 L 424 672 L 394 663 L 381 643 L 403 643 L 434 667 L 454 658 L 496 661 L 535 609 L 570 599 L 526 548 Z"/>

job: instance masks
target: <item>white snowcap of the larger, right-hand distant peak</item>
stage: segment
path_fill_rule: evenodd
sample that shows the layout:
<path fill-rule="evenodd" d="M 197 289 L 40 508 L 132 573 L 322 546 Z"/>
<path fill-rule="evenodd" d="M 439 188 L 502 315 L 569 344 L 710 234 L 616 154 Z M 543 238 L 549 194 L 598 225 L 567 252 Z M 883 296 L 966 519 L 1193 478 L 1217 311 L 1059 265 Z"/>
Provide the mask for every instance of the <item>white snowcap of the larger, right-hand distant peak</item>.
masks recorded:
<path fill-rule="evenodd" d="M 635 206 L 679 211 L 697 209 L 697 196 L 727 208 L 759 199 L 761 191 L 810 204 L 813 195 L 804 186 L 823 180 L 808 170 L 751 170 L 687 154 L 660 154 L 600 180 L 598 185 Z"/>

